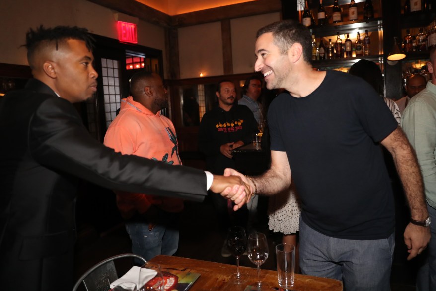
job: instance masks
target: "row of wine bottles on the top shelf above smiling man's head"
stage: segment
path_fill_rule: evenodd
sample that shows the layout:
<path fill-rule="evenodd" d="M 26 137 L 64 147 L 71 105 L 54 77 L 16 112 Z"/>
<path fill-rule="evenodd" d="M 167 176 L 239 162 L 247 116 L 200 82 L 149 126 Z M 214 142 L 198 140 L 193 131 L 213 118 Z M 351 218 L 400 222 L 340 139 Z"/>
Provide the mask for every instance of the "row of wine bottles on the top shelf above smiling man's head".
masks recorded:
<path fill-rule="evenodd" d="M 308 1 L 305 1 L 305 7 L 303 15 L 301 17 L 301 23 L 306 27 L 311 27 L 315 25 L 325 26 L 331 23 L 341 23 L 344 21 L 342 11 L 344 8 L 348 9 L 348 21 L 357 21 L 361 19 L 372 19 L 374 18 L 374 7 L 371 0 L 366 0 L 363 6 L 363 16 L 360 15 L 358 10 L 358 5 L 355 0 L 351 0 L 349 5 L 339 6 L 338 0 L 335 0 L 332 8 L 331 17 L 327 15 L 326 8 L 324 7 L 322 0 L 319 0 L 318 9 L 316 11 L 317 19 L 313 16 L 312 9 L 309 8 Z M 329 18 L 331 20 L 329 21 Z"/>

